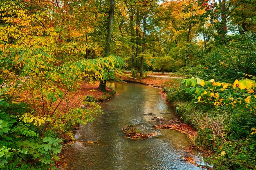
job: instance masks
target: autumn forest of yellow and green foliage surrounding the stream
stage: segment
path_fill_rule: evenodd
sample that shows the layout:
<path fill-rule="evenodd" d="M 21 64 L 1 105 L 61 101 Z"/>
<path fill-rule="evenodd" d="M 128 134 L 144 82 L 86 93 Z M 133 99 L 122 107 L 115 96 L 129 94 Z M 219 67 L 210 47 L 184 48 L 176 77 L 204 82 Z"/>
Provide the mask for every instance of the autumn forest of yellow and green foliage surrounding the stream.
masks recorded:
<path fill-rule="evenodd" d="M 4 0 L 0 42 L 0 169 L 56 168 L 72 128 L 101 114 L 72 94 L 122 68 L 188 77 L 164 90 L 206 160 L 256 169 L 255 0 Z"/>

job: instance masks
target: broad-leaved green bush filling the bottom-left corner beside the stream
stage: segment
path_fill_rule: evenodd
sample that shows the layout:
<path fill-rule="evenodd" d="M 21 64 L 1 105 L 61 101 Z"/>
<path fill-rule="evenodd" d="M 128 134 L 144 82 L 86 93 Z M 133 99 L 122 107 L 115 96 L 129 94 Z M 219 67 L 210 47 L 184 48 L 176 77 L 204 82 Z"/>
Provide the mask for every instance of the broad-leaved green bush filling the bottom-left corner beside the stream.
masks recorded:
<path fill-rule="evenodd" d="M 29 107 L 24 103 L 0 100 L 0 170 L 54 169 L 62 140 L 42 138 L 32 123 L 19 119 Z"/>

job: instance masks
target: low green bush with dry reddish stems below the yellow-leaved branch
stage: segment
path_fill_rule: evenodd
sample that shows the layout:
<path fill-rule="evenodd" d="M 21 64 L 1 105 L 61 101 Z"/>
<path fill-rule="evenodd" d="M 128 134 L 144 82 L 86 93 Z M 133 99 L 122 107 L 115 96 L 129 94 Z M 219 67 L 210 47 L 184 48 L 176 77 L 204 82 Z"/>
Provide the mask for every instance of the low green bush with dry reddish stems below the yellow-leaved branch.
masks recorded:
<path fill-rule="evenodd" d="M 256 117 L 240 110 L 222 109 L 195 102 L 176 108 L 186 123 L 198 131 L 198 148 L 211 153 L 205 161 L 216 170 L 256 168 Z"/>

